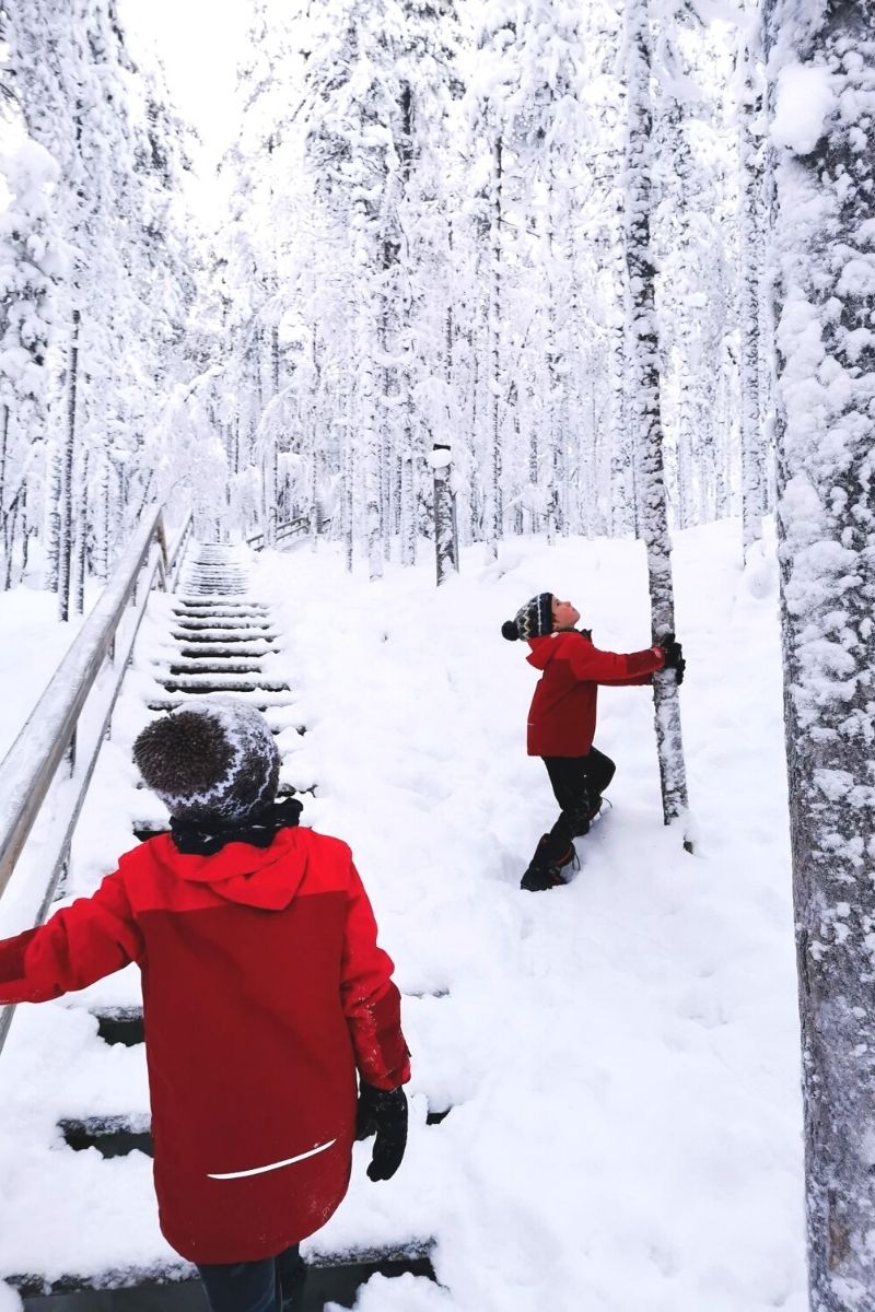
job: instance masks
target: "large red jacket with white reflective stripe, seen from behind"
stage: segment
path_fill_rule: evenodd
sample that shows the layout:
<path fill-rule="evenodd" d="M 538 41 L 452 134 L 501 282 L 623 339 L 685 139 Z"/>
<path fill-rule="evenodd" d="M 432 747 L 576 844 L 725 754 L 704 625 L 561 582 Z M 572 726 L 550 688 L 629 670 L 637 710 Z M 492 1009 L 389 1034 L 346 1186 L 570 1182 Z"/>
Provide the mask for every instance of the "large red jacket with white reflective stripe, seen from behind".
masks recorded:
<path fill-rule="evenodd" d="M 93 897 L 0 942 L 0 1002 L 143 974 L 161 1231 L 192 1262 L 270 1257 L 349 1183 L 356 1069 L 409 1080 L 392 962 L 349 848 L 282 829 L 269 848 L 182 855 L 160 834 Z"/>

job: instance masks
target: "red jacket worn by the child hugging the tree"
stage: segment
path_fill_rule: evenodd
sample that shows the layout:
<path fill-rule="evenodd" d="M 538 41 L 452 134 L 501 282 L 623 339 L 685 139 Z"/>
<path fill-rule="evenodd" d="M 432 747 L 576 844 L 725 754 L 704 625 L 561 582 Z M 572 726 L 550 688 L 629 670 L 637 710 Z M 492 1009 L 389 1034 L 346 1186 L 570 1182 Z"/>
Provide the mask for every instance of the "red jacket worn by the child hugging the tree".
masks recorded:
<path fill-rule="evenodd" d="M 649 684 L 662 669 L 661 647 L 621 656 L 600 652 L 576 628 L 534 638 L 526 657 L 543 674 L 529 710 L 529 756 L 586 756 L 596 733 L 598 684 Z"/>

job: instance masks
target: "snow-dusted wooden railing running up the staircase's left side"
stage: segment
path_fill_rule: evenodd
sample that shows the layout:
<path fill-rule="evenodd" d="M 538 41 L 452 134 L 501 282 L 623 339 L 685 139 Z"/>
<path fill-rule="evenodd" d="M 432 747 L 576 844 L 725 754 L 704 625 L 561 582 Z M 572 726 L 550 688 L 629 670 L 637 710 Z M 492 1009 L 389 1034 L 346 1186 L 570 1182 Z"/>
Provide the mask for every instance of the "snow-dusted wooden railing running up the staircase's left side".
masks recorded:
<path fill-rule="evenodd" d="M 109 698 L 108 722 L 125 674 L 127 655 L 130 655 L 139 619 L 146 609 L 148 590 L 156 575 L 161 588 L 165 589 L 171 584 L 178 569 L 189 533 L 190 517 L 184 525 L 174 548 L 168 551 L 160 508 L 155 509 L 140 525 L 115 565 L 97 605 L 63 657 L 9 753 L 0 764 L 0 895 L 9 883 L 64 754 L 68 756 L 75 768 L 79 718 L 104 661 L 109 656 L 117 673 Z M 148 584 L 140 594 L 142 604 L 136 623 L 132 626 L 134 634 L 129 635 L 130 640 L 126 643 L 127 655 L 121 660 L 119 653 L 114 649 L 117 631 L 129 602 L 136 605 L 138 585 L 144 567 Z M 58 853 L 58 869 L 51 871 L 54 884 L 56 884 L 59 869 L 67 857 L 70 837 L 81 810 L 101 740 L 102 735 L 97 740 L 93 758 L 85 770 L 75 770 L 84 778 L 80 778 L 80 795 L 76 798 L 72 817 Z"/>

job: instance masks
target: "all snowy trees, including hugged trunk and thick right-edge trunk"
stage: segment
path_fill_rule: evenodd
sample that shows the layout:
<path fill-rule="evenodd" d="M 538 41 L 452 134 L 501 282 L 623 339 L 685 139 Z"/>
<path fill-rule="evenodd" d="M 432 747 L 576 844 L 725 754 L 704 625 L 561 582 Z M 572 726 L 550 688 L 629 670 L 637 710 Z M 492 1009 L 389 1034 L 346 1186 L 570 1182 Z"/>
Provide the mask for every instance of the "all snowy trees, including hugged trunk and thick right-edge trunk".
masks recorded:
<path fill-rule="evenodd" d="M 438 584 L 635 537 L 664 634 L 672 527 L 777 510 L 812 1307 L 871 1309 L 875 0 L 249 12 L 207 226 L 114 0 L 0 0 L 3 588 L 161 502 Z"/>

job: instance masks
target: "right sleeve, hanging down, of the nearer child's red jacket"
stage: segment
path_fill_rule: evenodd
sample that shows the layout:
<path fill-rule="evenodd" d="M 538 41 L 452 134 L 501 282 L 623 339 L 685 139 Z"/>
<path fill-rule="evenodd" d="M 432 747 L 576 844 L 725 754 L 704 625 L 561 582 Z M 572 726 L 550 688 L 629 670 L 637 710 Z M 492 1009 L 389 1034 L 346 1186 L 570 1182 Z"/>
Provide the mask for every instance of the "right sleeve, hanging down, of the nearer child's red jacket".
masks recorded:
<path fill-rule="evenodd" d="M 356 866 L 350 871 L 341 1002 L 359 1076 L 376 1089 L 396 1089 L 411 1078 L 401 996 L 392 983 L 392 959 L 376 946 L 376 921 L 362 880 Z"/>

